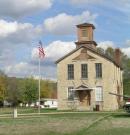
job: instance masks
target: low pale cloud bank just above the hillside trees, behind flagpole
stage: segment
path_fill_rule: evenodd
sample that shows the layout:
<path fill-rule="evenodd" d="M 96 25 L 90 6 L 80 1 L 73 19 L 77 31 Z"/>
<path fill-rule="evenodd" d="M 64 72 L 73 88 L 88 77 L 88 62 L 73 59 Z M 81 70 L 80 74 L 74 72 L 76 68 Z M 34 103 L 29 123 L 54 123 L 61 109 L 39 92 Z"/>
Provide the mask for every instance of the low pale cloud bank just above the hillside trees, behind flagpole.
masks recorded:
<path fill-rule="evenodd" d="M 10 64 L 3 70 L 8 76 L 15 77 L 29 77 L 39 76 L 38 63 L 32 64 L 29 62 L 19 62 L 16 64 Z M 55 79 L 56 67 L 50 65 L 41 65 L 41 78 Z"/>

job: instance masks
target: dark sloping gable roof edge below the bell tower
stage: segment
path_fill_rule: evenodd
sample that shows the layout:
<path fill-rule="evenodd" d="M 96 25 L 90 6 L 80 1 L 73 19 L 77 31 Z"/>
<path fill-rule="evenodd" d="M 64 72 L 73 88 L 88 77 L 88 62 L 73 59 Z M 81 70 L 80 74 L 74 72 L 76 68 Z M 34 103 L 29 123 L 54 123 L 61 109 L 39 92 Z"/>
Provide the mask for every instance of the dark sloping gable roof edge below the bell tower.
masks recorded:
<path fill-rule="evenodd" d="M 65 56 L 63 56 L 63 57 L 61 57 L 60 59 L 58 59 L 55 63 L 56 63 L 56 64 L 59 63 L 60 61 L 62 61 L 63 59 L 65 59 L 66 57 L 70 56 L 71 54 L 73 54 L 74 52 L 78 51 L 78 50 L 81 49 L 81 48 L 86 48 L 86 49 L 88 49 L 89 51 L 95 53 L 96 55 L 99 55 L 99 56 L 103 57 L 104 59 L 106 59 L 106 60 L 112 62 L 112 63 L 115 64 L 117 67 L 119 67 L 120 69 L 122 69 L 121 65 L 119 65 L 118 63 L 116 63 L 116 61 L 115 61 L 114 59 L 110 58 L 108 55 L 106 55 L 106 54 L 104 54 L 104 53 L 102 53 L 102 52 L 98 52 L 97 50 L 95 50 L 95 49 L 93 49 L 93 48 L 91 48 L 91 47 L 89 47 L 89 46 L 80 46 L 79 48 L 74 49 L 74 50 L 71 51 L 70 53 L 68 53 L 68 54 L 66 54 Z"/>

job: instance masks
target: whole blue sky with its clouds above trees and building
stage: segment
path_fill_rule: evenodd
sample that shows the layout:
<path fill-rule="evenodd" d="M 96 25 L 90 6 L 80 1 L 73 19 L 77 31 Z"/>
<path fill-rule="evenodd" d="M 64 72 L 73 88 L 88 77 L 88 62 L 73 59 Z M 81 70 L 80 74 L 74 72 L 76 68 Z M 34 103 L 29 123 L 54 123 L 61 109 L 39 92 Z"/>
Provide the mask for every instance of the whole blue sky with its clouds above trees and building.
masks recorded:
<path fill-rule="evenodd" d="M 1 0 L 0 69 L 9 76 L 37 77 L 42 40 L 42 77 L 56 79 L 54 62 L 75 48 L 75 25 L 84 22 L 96 26 L 100 47 L 120 47 L 130 57 L 129 0 Z"/>

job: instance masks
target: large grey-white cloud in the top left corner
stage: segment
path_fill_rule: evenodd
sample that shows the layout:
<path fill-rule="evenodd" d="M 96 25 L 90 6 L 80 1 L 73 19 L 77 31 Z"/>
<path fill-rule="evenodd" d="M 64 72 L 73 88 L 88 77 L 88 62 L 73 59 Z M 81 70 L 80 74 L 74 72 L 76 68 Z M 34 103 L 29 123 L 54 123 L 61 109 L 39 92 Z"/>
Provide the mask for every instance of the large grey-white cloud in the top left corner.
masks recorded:
<path fill-rule="evenodd" d="M 0 15 L 20 17 L 36 11 L 47 10 L 53 0 L 0 0 Z"/>

